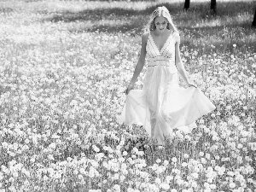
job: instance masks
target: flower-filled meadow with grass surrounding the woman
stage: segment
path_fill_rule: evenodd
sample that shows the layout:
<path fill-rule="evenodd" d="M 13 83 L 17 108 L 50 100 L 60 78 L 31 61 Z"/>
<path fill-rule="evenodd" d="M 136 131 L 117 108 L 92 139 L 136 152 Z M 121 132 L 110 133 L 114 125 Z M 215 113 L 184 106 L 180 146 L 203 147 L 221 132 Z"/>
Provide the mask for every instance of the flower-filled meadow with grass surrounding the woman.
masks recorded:
<path fill-rule="evenodd" d="M 143 26 L 165 5 L 215 111 L 156 147 L 119 124 Z M 256 190 L 251 1 L 1 1 L 0 192 Z M 144 67 L 137 80 L 141 89 Z M 183 80 L 180 80 L 180 85 Z"/>

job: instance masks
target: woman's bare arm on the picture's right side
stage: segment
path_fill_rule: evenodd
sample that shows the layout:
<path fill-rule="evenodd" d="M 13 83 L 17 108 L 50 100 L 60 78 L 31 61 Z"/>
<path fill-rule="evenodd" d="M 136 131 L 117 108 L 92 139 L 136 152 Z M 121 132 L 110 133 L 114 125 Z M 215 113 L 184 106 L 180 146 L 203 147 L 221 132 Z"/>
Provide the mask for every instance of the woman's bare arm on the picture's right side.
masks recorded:
<path fill-rule="evenodd" d="M 176 63 L 175 64 L 176 64 L 176 67 L 177 67 L 177 71 L 181 74 L 181 76 L 183 77 L 186 84 L 188 84 L 189 86 L 196 87 L 195 84 L 190 83 L 189 78 L 186 74 L 187 71 L 184 68 L 183 61 L 181 60 L 180 51 L 179 51 L 180 37 L 179 37 L 178 33 L 175 33 L 174 39 L 175 39 L 175 58 L 176 58 L 176 60 L 175 60 Z"/>

